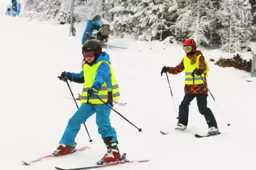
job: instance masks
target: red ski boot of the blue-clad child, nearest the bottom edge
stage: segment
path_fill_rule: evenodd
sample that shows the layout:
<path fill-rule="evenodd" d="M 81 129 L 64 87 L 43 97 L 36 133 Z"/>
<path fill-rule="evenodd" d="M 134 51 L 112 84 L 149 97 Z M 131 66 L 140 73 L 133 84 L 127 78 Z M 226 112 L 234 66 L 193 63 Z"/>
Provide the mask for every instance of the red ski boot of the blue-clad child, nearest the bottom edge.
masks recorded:
<path fill-rule="evenodd" d="M 117 147 L 118 142 L 113 142 L 113 139 L 111 137 L 104 138 L 104 141 L 108 151 L 105 156 L 103 156 L 103 158 L 97 162 L 97 164 L 105 164 L 108 162 L 121 161 L 122 159 L 125 159 L 119 153 L 119 149 Z"/>

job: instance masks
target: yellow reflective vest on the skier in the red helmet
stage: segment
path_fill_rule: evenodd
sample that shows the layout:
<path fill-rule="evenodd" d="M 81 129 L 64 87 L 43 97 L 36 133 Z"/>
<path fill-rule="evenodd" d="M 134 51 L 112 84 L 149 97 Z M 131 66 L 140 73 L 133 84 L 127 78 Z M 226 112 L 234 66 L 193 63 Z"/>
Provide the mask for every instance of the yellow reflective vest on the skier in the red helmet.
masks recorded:
<path fill-rule="evenodd" d="M 189 59 L 187 56 L 184 57 L 183 59 L 183 64 L 184 64 L 184 68 L 185 68 L 185 84 L 186 85 L 198 85 L 198 84 L 203 84 L 203 80 L 201 79 L 201 77 L 204 79 L 204 73 L 206 75 L 206 77 L 208 77 L 207 72 L 209 71 L 209 65 L 207 64 L 206 60 L 204 60 L 204 62 L 206 63 L 206 71 L 204 71 L 204 73 L 200 76 L 197 76 L 195 74 L 195 77 L 192 77 L 192 73 L 195 70 L 195 68 L 199 68 L 199 58 L 202 54 L 199 54 L 197 56 L 196 62 L 194 65 L 191 65 L 191 59 Z"/>

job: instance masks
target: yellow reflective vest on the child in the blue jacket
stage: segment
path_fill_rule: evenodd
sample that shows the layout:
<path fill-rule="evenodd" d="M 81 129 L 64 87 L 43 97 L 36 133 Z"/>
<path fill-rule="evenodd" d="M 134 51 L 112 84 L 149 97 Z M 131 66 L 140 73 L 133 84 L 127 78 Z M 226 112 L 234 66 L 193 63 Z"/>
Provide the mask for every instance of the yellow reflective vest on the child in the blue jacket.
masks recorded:
<path fill-rule="evenodd" d="M 84 89 L 83 89 L 83 92 L 81 95 L 81 104 L 87 103 L 87 92 L 89 89 L 92 89 L 92 85 L 95 80 L 98 68 L 102 64 L 102 62 L 106 62 L 106 61 L 98 62 L 97 64 L 94 64 L 92 66 L 89 66 L 87 64 L 84 65 L 84 68 L 83 68 L 83 70 L 84 70 Z M 106 63 L 108 63 L 108 62 L 106 62 Z M 108 92 L 112 91 L 112 98 L 113 98 L 113 102 L 114 102 L 115 100 L 119 99 L 120 94 L 119 94 L 119 88 L 118 88 L 118 84 L 117 84 L 113 69 L 109 63 L 108 63 L 108 65 L 111 70 L 112 88 L 108 88 L 107 83 L 104 82 L 102 87 L 99 90 L 99 98 L 102 99 L 104 102 L 108 102 Z M 92 99 L 91 97 L 89 97 L 89 103 L 95 104 L 95 105 L 103 104 L 103 102 L 100 101 L 98 98 Z"/>

